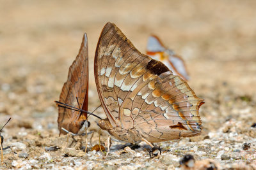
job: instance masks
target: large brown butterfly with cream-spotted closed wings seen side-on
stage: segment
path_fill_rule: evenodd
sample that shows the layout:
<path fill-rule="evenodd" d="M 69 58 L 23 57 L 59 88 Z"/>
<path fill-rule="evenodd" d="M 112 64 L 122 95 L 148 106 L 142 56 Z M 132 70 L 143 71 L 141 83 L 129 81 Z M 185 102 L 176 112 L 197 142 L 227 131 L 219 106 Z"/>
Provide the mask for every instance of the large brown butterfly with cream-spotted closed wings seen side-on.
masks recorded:
<path fill-rule="evenodd" d="M 107 115 L 98 125 L 115 138 L 154 143 L 200 134 L 203 99 L 162 62 L 140 53 L 115 24 L 100 34 L 94 69 Z"/>

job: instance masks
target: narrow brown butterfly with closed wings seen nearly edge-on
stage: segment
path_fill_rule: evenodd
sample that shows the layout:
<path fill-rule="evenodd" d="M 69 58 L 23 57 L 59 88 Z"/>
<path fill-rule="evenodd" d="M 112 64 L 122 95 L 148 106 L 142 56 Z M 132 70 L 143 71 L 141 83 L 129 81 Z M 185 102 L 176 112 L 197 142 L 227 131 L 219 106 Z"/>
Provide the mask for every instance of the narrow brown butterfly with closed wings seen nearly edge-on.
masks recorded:
<path fill-rule="evenodd" d="M 76 60 L 69 67 L 68 79 L 61 90 L 60 102 L 85 111 L 88 110 L 88 40 L 86 34 L 83 36 Z M 81 128 L 87 118 L 86 113 L 63 107 L 58 107 L 58 111 L 60 133 L 66 133 L 61 130 L 61 127 L 76 134 L 79 130 L 83 130 Z"/>

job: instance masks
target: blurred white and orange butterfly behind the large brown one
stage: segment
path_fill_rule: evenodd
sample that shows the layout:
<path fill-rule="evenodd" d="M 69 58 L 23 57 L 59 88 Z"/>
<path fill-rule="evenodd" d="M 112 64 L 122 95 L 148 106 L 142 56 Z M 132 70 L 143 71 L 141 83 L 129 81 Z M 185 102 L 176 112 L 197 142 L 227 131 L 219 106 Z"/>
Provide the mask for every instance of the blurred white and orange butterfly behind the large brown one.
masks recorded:
<path fill-rule="evenodd" d="M 166 48 L 157 36 L 148 38 L 147 55 L 163 62 L 173 74 L 179 75 L 183 80 L 189 80 L 184 60 L 173 50 Z"/>

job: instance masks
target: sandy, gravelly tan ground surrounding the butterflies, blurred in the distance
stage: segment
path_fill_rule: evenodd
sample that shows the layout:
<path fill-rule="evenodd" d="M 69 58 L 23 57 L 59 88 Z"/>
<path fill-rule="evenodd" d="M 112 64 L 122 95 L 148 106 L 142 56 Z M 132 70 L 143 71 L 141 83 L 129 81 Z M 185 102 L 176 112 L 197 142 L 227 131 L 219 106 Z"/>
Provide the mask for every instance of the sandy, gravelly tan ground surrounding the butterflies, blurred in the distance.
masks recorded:
<path fill-rule="evenodd" d="M 1 135 L 3 146 L 12 145 L 17 153 L 6 150 L 0 168 L 179 169 L 179 160 L 190 153 L 197 161 L 212 159 L 219 169 L 256 169 L 256 128 L 251 127 L 256 122 L 255 8 L 253 0 L 0 0 L 0 124 L 12 117 Z M 65 157 L 67 150 L 45 150 L 65 145 L 66 136 L 58 138 L 54 101 L 84 32 L 89 41 L 89 111 L 100 104 L 93 57 L 108 21 L 141 52 L 153 33 L 184 57 L 188 83 L 205 99 L 201 136 L 157 143 L 163 149 L 159 159 L 149 158 L 145 143 L 124 151 L 124 143 L 114 142 L 107 159 L 95 151 Z M 95 113 L 106 117 L 102 109 Z M 98 131 L 93 118 L 91 122 L 90 130 Z M 103 145 L 106 138 L 100 138 Z M 89 148 L 98 140 L 95 133 Z M 248 150 L 244 143 L 251 144 Z"/>

